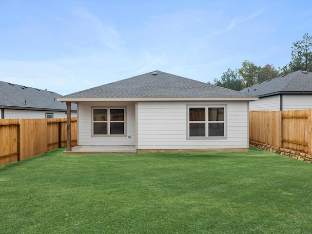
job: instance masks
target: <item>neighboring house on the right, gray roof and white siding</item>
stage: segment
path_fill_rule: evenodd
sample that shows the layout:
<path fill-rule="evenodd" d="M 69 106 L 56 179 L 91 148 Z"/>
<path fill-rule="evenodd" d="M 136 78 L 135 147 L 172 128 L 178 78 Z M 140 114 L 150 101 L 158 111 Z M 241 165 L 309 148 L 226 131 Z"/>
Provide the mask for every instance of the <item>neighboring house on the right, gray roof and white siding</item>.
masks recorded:
<path fill-rule="evenodd" d="M 312 108 L 312 72 L 296 71 L 251 85 L 239 91 L 258 97 L 250 111 L 282 111 Z"/>

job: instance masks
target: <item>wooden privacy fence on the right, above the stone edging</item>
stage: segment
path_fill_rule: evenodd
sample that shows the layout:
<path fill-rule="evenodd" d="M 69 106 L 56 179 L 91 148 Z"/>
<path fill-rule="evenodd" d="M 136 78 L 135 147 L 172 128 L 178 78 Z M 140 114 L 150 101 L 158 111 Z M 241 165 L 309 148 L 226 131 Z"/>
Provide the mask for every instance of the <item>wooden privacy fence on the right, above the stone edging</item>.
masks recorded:
<path fill-rule="evenodd" d="M 312 109 L 251 111 L 250 140 L 312 155 Z"/>

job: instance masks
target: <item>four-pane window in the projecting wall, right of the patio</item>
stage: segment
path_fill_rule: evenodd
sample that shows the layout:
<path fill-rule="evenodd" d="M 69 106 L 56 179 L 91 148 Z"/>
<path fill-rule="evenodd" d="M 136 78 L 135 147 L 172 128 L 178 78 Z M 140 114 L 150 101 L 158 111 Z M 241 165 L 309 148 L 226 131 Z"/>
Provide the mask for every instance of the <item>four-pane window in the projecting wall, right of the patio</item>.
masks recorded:
<path fill-rule="evenodd" d="M 188 107 L 188 137 L 226 137 L 225 107 Z"/>

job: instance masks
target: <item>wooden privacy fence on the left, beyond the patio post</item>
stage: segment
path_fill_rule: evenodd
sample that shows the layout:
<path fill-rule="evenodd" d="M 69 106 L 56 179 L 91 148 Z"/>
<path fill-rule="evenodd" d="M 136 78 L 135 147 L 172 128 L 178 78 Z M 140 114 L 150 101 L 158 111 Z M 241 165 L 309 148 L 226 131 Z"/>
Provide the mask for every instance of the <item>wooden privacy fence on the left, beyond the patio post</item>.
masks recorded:
<path fill-rule="evenodd" d="M 67 146 L 66 118 L 0 119 L 0 166 Z M 71 146 L 77 117 L 71 118 Z"/>

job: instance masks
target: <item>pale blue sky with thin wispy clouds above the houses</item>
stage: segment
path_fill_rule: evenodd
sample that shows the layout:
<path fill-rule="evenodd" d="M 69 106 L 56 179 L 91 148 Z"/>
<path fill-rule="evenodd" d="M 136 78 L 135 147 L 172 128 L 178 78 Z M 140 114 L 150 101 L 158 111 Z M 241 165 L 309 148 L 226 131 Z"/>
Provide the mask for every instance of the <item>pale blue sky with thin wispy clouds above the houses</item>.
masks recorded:
<path fill-rule="evenodd" d="M 160 70 L 203 82 L 276 68 L 312 1 L 0 1 L 0 80 L 61 95 Z"/>

